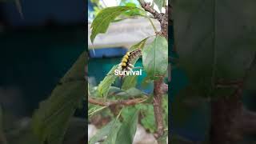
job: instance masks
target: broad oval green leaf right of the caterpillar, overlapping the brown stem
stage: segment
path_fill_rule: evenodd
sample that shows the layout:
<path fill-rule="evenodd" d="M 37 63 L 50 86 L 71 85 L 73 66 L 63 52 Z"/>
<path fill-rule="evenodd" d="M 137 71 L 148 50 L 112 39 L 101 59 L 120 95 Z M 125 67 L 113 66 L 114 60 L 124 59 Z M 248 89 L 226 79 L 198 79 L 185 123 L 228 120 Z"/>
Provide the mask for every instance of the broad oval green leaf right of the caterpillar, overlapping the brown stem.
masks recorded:
<path fill-rule="evenodd" d="M 154 42 L 145 46 L 142 51 L 142 62 L 147 76 L 154 77 L 166 74 L 168 67 L 168 43 L 166 38 L 156 36 Z"/>

